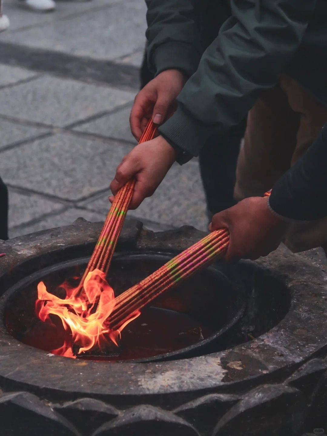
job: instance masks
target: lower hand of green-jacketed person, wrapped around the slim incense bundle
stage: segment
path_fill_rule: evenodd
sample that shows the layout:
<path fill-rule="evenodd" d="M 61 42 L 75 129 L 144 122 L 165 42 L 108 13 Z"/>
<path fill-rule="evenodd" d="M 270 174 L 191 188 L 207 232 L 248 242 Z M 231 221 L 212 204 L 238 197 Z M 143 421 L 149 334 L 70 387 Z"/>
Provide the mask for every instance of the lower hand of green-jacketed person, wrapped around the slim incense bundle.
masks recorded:
<path fill-rule="evenodd" d="M 136 209 L 146 197 L 151 197 L 176 159 L 174 148 L 162 137 L 136 145 L 118 165 L 111 192 L 116 195 L 131 178 L 135 177 L 133 197 L 129 209 Z M 109 201 L 114 196 L 109 197 Z"/>

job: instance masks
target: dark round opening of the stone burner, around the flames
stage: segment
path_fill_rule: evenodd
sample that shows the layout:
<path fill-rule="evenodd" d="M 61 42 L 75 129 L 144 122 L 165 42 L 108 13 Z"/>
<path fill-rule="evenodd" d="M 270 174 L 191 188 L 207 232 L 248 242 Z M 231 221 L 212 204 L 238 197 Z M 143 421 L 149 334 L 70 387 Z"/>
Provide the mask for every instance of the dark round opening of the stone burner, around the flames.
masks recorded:
<path fill-rule="evenodd" d="M 171 258 L 159 253 L 117 254 L 108 274 L 108 283 L 115 295 L 119 295 Z M 87 262 L 88 258 L 82 258 L 56 264 L 20 280 L 7 290 L 1 298 L 0 310 L 10 334 L 24 344 L 45 351 L 60 347 L 65 332 L 59 318 L 56 322 L 53 317 L 51 326 L 35 315 L 37 284 L 42 280 L 51 293 L 56 293 L 65 279 L 81 276 Z M 112 344 L 78 358 L 136 362 L 172 360 L 219 351 L 249 340 L 246 331 L 249 329 L 255 335 L 262 334 L 285 315 L 289 296 L 276 283 L 268 280 L 267 286 L 264 277 L 262 283 L 257 281 L 262 289 L 255 291 L 247 274 L 244 270 L 239 277 L 236 270 L 225 274 L 218 267 L 207 268 L 142 310 L 141 315 L 122 330 L 119 347 Z M 260 291 L 265 293 L 266 299 Z"/>

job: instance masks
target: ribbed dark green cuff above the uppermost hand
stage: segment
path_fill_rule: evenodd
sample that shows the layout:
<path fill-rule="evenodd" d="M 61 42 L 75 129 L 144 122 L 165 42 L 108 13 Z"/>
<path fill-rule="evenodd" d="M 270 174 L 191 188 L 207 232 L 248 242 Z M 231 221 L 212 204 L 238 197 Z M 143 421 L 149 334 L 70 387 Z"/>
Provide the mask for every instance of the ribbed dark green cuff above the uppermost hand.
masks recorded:
<path fill-rule="evenodd" d="M 198 68 L 201 58 L 191 44 L 183 42 L 166 42 L 148 52 L 148 64 L 155 75 L 174 68 L 191 77 Z"/>

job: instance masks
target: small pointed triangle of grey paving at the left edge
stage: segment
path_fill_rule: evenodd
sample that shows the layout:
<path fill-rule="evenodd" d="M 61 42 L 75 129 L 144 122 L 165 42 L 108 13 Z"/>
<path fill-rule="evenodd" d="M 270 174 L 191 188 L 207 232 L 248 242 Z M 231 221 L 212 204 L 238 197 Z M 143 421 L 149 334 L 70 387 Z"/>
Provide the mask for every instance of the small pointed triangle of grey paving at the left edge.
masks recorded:
<path fill-rule="evenodd" d="M 12 123 L 5 119 L 0 119 L 0 151 L 4 147 L 24 140 L 29 140 L 35 136 L 47 133 L 47 129 L 23 126 Z M 0 156 L 1 159 L 1 156 Z"/>

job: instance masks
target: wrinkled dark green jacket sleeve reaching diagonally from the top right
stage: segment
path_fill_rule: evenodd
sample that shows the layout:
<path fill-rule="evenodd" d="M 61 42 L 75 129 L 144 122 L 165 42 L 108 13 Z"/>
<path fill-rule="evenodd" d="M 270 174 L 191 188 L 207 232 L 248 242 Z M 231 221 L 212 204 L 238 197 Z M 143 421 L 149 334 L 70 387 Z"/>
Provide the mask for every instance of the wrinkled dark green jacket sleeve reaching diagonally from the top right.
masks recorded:
<path fill-rule="evenodd" d="M 316 0 L 231 0 L 232 17 L 206 49 L 159 132 L 193 156 L 239 123 L 299 47 Z"/>

